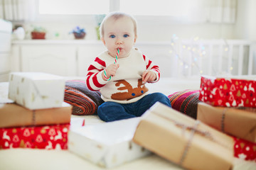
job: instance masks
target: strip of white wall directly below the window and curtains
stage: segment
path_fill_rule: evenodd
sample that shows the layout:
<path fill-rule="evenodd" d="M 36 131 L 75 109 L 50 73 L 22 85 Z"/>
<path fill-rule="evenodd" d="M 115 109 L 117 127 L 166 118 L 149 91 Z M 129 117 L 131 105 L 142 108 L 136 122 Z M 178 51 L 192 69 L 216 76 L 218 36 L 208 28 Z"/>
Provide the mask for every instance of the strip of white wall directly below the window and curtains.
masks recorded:
<path fill-rule="evenodd" d="M 33 26 L 43 26 L 48 30 L 47 39 L 73 39 L 72 34 L 68 34 L 75 26 L 80 26 L 87 30 L 86 39 L 96 40 L 95 24 L 87 22 L 42 22 L 42 23 L 22 23 L 26 30 L 26 39 L 30 39 L 30 32 Z M 171 40 L 172 35 L 176 34 L 179 38 L 199 37 L 203 39 L 235 39 L 235 24 L 220 23 L 154 23 L 149 21 L 143 23 L 138 20 L 138 40 Z M 59 37 L 55 37 L 55 33 Z"/>

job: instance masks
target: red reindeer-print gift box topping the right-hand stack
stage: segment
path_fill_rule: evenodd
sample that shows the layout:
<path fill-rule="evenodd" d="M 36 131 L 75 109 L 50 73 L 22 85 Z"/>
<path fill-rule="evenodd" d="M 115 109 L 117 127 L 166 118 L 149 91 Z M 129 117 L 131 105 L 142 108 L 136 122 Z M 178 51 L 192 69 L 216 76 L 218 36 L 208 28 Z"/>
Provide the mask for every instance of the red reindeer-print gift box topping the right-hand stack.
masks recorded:
<path fill-rule="evenodd" d="M 213 106 L 256 107 L 256 77 L 201 77 L 199 100 Z"/>

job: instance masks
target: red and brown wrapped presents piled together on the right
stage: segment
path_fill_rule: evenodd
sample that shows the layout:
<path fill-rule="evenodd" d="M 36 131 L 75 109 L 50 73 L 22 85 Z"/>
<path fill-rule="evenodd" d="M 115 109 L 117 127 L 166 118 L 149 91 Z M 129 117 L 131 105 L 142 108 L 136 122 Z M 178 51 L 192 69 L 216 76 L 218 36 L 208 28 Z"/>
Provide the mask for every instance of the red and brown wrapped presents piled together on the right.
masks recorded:
<path fill-rule="evenodd" d="M 255 90 L 252 79 L 201 77 L 196 119 L 157 103 L 133 141 L 186 169 L 232 169 L 235 158 L 254 164 Z"/>

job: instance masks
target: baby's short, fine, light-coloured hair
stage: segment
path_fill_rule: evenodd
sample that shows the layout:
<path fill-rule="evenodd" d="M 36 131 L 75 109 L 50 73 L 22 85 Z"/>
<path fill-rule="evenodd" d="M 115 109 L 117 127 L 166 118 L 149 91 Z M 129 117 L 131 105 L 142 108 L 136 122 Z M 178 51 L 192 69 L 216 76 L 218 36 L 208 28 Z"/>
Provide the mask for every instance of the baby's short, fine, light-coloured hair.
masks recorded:
<path fill-rule="evenodd" d="M 102 23 L 100 24 L 100 38 L 102 38 L 103 35 L 104 35 L 104 25 L 105 25 L 105 22 L 109 18 L 114 18 L 114 20 L 117 20 L 117 19 L 122 18 L 124 16 L 127 16 L 127 17 L 131 18 L 132 23 L 134 24 L 134 35 L 137 36 L 137 21 L 135 20 L 135 18 L 133 16 L 129 15 L 128 13 L 112 12 L 112 13 L 109 13 L 107 16 L 105 16 Z"/>

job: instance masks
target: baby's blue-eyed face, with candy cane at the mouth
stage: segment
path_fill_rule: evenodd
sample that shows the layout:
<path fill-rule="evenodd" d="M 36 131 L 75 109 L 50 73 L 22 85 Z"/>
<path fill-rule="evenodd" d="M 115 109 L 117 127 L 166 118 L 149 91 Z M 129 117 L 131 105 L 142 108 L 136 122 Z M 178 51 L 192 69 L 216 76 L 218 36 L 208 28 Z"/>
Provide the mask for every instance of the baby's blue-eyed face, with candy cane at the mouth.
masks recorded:
<path fill-rule="evenodd" d="M 104 35 L 102 42 L 107 47 L 110 55 L 115 57 L 119 48 L 118 57 L 127 57 L 136 42 L 132 19 L 127 16 L 123 16 L 117 20 L 109 18 L 103 29 Z"/>

